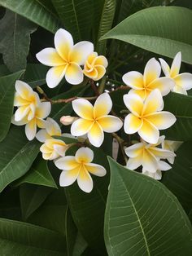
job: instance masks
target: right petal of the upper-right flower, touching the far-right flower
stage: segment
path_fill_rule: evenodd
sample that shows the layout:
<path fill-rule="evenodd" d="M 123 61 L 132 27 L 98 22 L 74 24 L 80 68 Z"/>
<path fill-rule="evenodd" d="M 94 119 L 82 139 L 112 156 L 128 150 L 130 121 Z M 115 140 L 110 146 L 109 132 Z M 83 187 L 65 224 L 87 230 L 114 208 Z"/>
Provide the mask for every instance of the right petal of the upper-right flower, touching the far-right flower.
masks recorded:
<path fill-rule="evenodd" d="M 173 89 L 175 83 L 172 78 L 159 77 L 147 86 L 148 89 L 155 90 L 159 89 L 162 96 L 168 95 L 170 90 Z"/>

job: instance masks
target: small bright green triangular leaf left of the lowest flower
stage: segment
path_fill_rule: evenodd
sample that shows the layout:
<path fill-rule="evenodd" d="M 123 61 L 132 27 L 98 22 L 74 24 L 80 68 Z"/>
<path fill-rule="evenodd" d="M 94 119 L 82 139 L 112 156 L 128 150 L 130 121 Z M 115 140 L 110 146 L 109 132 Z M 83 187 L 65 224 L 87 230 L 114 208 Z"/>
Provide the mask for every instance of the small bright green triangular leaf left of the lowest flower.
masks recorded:
<path fill-rule="evenodd" d="M 50 188 L 57 188 L 55 180 L 50 174 L 47 168 L 47 162 L 42 159 L 42 157 L 37 157 L 34 161 L 33 166 L 28 170 L 27 174 L 18 179 L 14 186 L 20 186 L 22 183 L 31 183 L 40 186 L 46 186 Z"/>

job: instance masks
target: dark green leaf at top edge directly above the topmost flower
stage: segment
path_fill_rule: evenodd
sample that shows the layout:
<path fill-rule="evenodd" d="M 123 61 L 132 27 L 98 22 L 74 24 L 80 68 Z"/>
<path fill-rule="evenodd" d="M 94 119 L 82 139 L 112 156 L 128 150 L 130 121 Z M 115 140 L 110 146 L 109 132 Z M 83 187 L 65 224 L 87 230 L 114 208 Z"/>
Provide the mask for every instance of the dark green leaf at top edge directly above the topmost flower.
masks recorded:
<path fill-rule="evenodd" d="M 93 3 L 90 0 L 51 0 L 65 29 L 75 42 L 90 38 Z"/>

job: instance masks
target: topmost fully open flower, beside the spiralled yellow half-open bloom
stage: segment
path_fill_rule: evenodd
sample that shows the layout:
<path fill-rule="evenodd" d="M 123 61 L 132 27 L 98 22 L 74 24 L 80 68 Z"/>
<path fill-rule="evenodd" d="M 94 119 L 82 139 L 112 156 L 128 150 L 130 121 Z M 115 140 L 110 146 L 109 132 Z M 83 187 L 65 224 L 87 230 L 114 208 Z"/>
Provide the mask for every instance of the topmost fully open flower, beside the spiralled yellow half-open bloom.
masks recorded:
<path fill-rule="evenodd" d="M 42 64 L 53 67 L 46 73 L 47 85 L 54 88 L 63 77 L 72 85 L 80 84 L 83 82 L 81 65 L 85 64 L 87 56 L 94 51 L 94 45 L 87 41 L 74 45 L 71 33 L 65 29 L 55 33 L 54 41 L 55 48 L 43 49 L 36 55 Z"/>

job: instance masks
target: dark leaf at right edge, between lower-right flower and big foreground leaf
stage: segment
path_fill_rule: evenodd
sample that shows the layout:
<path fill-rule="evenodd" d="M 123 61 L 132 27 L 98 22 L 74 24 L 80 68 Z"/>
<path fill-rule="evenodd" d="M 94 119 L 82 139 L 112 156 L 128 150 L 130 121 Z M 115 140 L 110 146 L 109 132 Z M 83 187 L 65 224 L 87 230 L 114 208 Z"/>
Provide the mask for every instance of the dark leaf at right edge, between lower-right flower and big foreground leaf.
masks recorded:
<path fill-rule="evenodd" d="M 162 182 L 180 201 L 186 211 L 192 209 L 192 143 L 183 143 L 171 170 L 164 173 Z"/>

